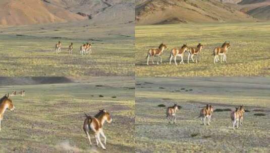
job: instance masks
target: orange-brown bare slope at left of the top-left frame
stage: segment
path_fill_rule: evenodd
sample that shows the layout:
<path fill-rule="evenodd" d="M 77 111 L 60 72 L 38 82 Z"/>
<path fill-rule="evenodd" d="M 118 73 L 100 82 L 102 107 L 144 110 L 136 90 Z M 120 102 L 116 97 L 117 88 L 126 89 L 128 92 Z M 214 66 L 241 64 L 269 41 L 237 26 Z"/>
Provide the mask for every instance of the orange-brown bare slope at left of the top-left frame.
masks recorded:
<path fill-rule="evenodd" d="M 0 25 L 28 25 L 83 20 L 85 17 L 36 0 L 2 0 Z"/>

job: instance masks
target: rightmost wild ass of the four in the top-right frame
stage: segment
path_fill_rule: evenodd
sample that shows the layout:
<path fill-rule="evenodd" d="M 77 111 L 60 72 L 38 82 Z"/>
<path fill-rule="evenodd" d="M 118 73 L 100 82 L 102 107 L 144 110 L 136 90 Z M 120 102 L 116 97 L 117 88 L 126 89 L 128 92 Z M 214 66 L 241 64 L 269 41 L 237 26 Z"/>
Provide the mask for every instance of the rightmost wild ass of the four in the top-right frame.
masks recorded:
<path fill-rule="evenodd" d="M 215 47 L 212 54 L 214 55 L 214 63 L 220 61 L 219 56 L 221 56 L 221 63 L 222 61 L 227 62 L 226 52 L 230 48 L 231 48 L 231 45 L 230 43 L 227 43 L 227 42 L 223 43 L 222 47 Z"/>

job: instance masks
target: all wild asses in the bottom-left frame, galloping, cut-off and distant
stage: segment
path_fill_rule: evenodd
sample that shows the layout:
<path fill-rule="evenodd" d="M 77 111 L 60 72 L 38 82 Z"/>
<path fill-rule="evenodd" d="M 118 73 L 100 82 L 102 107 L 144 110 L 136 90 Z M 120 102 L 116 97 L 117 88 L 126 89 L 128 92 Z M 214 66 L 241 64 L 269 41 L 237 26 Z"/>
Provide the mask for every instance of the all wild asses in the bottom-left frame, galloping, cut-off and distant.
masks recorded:
<path fill-rule="evenodd" d="M 20 93 L 25 93 L 25 91 L 21 91 Z M 4 113 L 7 109 L 14 111 L 15 106 L 11 100 L 11 95 L 16 95 L 16 91 L 13 91 L 12 94 L 6 94 L 4 97 L 0 99 L 0 131 L 1 131 L 1 121 L 3 120 Z M 98 146 L 99 144 L 101 147 L 105 150 L 105 144 L 106 144 L 106 136 L 103 132 L 103 125 L 104 122 L 111 123 L 112 122 L 112 117 L 109 112 L 107 112 L 104 109 L 99 110 L 99 112 L 94 115 L 90 116 L 85 113 L 85 120 L 83 123 L 83 130 L 85 134 L 87 135 L 87 138 L 89 140 L 90 145 L 91 143 L 91 138 L 89 133 L 94 133 L 95 140 L 96 140 L 96 145 Z M 100 140 L 100 135 L 104 138 L 104 144 Z"/>

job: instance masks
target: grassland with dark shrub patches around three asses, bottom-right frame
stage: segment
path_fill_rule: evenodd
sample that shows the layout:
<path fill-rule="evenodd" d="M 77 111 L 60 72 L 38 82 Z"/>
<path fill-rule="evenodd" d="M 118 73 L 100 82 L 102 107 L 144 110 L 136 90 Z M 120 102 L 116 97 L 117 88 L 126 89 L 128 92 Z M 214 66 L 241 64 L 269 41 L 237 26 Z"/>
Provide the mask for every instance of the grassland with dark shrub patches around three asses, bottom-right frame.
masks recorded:
<path fill-rule="evenodd" d="M 269 145 L 269 78 L 137 78 L 136 152 L 267 152 Z M 169 124 L 166 108 L 182 107 Z M 213 112 L 203 126 L 199 110 L 244 105 L 243 126 L 233 130 L 230 111 Z M 263 113 L 265 116 L 254 116 Z"/>

